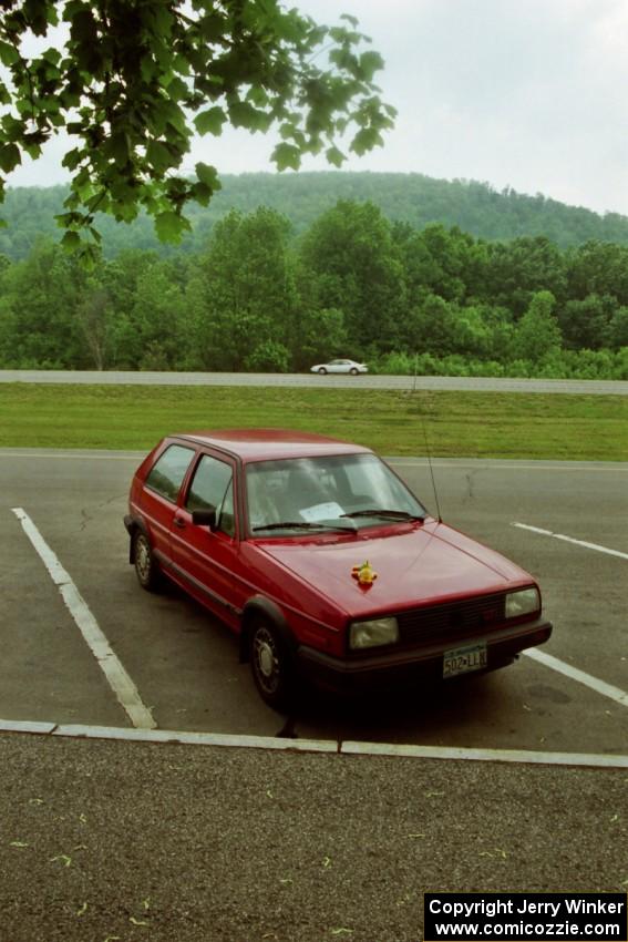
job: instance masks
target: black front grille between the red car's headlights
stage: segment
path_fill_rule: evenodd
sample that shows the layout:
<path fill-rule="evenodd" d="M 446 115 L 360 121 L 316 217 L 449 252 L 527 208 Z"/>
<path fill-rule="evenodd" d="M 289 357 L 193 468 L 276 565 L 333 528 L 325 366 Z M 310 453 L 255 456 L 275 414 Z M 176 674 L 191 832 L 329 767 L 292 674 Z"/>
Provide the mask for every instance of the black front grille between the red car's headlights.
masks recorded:
<path fill-rule="evenodd" d="M 399 641 L 404 645 L 415 645 L 472 637 L 497 628 L 504 618 L 503 594 L 428 605 L 398 613 Z"/>

